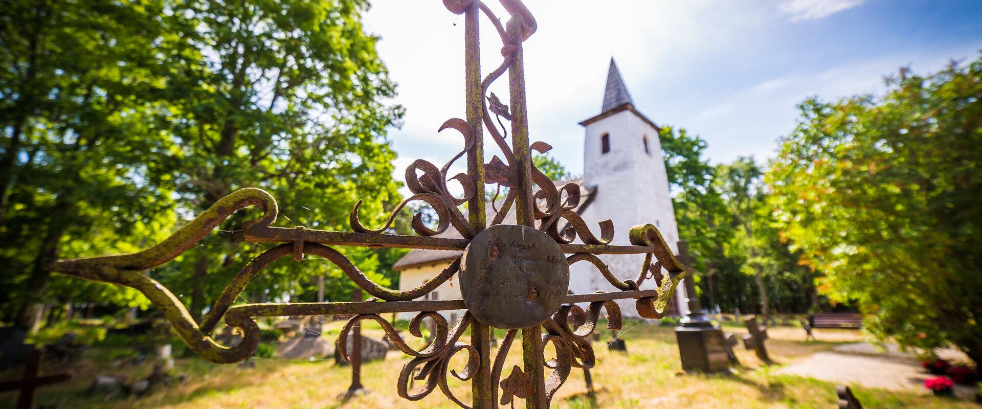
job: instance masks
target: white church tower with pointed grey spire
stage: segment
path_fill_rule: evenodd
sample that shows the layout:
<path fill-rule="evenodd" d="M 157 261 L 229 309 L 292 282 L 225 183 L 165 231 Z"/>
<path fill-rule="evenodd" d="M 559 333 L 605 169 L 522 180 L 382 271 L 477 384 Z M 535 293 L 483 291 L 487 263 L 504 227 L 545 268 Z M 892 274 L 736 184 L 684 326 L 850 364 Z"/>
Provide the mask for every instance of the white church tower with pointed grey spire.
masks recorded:
<path fill-rule="evenodd" d="M 669 193 L 665 159 L 658 139 L 658 128 L 634 107 L 617 64 L 611 58 L 607 87 L 600 114 L 579 123 L 585 128 L 583 146 L 583 183 L 592 190 L 590 204 L 581 216 L 591 229 L 606 219 L 614 222 L 612 244 L 630 244 L 631 227 L 653 224 L 661 231 L 673 252 L 678 253 L 679 230 L 672 197 Z M 636 280 L 644 255 L 601 257 L 620 280 Z M 588 263 L 571 266 L 570 287 L 584 293 L 613 289 L 596 274 Z M 663 271 L 663 273 L 665 273 Z M 642 288 L 654 288 L 645 281 Z M 683 285 L 679 285 L 674 306 L 684 302 Z M 633 300 L 620 302 L 628 317 L 637 316 Z M 684 311 L 678 308 L 678 311 Z"/>

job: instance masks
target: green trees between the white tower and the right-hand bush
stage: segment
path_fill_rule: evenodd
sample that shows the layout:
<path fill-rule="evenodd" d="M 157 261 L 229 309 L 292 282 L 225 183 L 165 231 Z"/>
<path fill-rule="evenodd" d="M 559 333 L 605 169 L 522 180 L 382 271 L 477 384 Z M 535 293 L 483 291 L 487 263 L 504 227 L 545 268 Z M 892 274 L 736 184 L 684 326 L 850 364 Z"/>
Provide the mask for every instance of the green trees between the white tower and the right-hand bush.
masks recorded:
<path fill-rule="evenodd" d="M 765 203 L 762 171 L 752 158 L 712 166 L 706 142 L 684 128 L 659 134 L 679 235 L 706 305 L 769 314 L 818 307 L 812 270 L 781 241 Z"/>

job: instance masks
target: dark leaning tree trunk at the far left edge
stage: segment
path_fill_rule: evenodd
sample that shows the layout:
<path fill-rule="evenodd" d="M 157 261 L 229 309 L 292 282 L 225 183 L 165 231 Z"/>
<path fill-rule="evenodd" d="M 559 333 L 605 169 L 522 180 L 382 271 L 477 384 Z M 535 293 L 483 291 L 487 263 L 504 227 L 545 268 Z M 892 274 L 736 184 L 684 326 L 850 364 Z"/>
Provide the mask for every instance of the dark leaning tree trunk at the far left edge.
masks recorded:
<path fill-rule="evenodd" d="M 51 208 L 53 217 L 48 222 L 47 233 L 45 233 L 44 238 L 41 240 L 40 249 L 37 251 L 37 256 L 34 257 L 34 262 L 31 264 L 30 276 L 27 277 L 27 281 L 25 282 L 27 297 L 25 297 L 24 303 L 21 304 L 21 308 L 17 314 L 17 321 L 15 322 L 17 327 L 27 329 L 28 332 L 34 332 L 40 321 L 38 312 L 42 305 L 38 301 L 41 300 L 44 290 L 48 287 L 48 281 L 51 278 L 51 272 L 48 271 L 47 265 L 58 260 L 58 252 L 60 250 L 58 244 L 61 242 L 62 236 L 65 234 L 65 229 L 68 227 L 68 220 L 71 219 L 71 211 L 72 206 L 62 199 L 59 199 Z"/>

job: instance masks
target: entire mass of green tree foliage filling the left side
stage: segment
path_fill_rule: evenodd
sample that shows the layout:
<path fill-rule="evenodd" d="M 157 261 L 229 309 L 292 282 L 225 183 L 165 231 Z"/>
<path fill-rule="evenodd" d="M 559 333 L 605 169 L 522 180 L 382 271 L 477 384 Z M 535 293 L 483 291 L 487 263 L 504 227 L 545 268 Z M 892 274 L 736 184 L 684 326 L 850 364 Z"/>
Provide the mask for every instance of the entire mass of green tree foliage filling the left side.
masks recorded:
<path fill-rule="evenodd" d="M 377 38 L 360 25 L 366 7 L 361 0 L 5 5 L 4 314 L 29 325 L 33 301 L 79 300 L 79 281 L 48 285 L 46 263 L 151 245 L 240 187 L 270 190 L 283 226 L 347 226 L 358 197 L 366 199 L 362 219 L 375 221 L 399 200 L 385 129 L 403 110 L 385 102 L 395 85 L 375 53 Z M 235 238 L 246 217 L 221 228 L 228 236 L 212 234 L 147 274 L 199 314 L 263 250 Z M 348 252 L 385 283 L 377 254 Z M 326 262 L 278 263 L 250 286 L 259 293 L 246 294 L 296 295 L 313 277 L 338 274 Z M 351 293 L 340 282 L 328 289 Z M 139 305 L 129 294 L 123 299 Z"/>

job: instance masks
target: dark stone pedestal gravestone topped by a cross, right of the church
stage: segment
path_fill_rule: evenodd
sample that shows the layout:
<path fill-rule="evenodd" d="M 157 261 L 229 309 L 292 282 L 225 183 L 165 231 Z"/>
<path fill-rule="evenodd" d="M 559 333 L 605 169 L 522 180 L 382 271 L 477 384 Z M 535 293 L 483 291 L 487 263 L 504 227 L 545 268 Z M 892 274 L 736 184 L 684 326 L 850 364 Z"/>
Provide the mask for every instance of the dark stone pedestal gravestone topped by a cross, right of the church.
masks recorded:
<path fill-rule="evenodd" d="M 684 241 L 679 242 L 678 259 L 683 264 L 694 264 L 695 260 L 688 254 L 688 246 Z M 682 358 L 684 371 L 725 372 L 730 370 L 730 364 L 736 363 L 736 355 L 730 347 L 723 330 L 706 315 L 702 309 L 699 297 L 695 295 L 693 278 L 685 278 L 685 293 L 688 295 L 688 311 L 682 317 L 680 326 L 676 327 L 676 339 L 679 343 L 679 355 Z"/>

